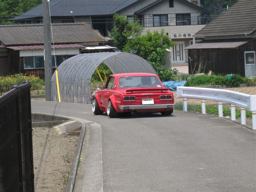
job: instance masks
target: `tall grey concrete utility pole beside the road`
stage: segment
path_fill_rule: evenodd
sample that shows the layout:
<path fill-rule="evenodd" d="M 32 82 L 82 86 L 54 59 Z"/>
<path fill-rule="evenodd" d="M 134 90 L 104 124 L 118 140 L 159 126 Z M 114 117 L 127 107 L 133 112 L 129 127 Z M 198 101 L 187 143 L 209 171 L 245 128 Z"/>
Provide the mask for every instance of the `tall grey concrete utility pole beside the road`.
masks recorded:
<path fill-rule="evenodd" d="M 43 25 L 44 25 L 44 81 L 45 100 L 51 100 L 51 78 L 52 78 L 52 47 L 50 28 L 50 0 L 43 0 Z"/>

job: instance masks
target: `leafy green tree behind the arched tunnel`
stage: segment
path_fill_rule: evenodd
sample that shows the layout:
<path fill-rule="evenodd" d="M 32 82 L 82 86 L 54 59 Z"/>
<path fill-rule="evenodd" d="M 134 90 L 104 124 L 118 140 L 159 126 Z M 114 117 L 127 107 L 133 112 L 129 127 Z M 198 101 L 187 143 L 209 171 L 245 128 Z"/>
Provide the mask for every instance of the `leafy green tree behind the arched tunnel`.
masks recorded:
<path fill-rule="evenodd" d="M 177 74 L 177 70 L 164 68 L 166 49 L 175 45 L 169 36 L 164 34 L 164 30 L 160 33 L 157 31 L 143 33 L 143 27 L 136 21 L 136 18 L 134 22 L 129 22 L 128 19 L 117 14 L 114 18 L 116 27 L 110 33 L 114 46 L 121 51 L 139 55 L 147 60 L 162 81 L 171 80 L 173 74 Z"/>

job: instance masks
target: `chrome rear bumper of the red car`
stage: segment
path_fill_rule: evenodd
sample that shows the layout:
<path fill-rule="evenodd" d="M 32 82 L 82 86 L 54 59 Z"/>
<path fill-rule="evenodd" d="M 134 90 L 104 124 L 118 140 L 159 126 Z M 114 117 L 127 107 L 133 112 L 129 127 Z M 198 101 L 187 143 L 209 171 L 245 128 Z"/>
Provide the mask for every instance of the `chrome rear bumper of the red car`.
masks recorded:
<path fill-rule="evenodd" d="M 173 108 L 174 104 L 158 104 L 158 105 L 119 105 L 121 110 L 135 110 L 135 109 L 166 109 Z"/>

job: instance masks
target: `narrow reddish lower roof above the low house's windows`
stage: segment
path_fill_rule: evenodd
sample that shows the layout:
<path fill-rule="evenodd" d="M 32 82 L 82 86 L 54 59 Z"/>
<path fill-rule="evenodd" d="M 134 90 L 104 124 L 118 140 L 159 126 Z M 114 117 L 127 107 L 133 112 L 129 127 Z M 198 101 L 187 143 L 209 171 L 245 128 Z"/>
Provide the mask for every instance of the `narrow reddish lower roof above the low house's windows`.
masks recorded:
<path fill-rule="evenodd" d="M 58 44 L 58 45 L 52 45 L 52 49 L 63 49 L 63 48 L 77 48 L 77 47 L 85 47 L 83 45 L 78 45 L 78 44 Z M 8 49 L 13 49 L 13 50 L 34 50 L 34 49 L 44 49 L 44 45 L 26 45 L 26 46 L 10 46 L 6 47 Z"/>

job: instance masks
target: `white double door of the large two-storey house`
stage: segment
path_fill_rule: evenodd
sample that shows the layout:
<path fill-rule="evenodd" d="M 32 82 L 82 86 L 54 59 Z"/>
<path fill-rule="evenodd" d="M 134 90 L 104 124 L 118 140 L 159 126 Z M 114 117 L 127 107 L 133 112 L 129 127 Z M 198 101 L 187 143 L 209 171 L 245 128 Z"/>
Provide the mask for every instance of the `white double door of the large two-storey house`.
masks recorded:
<path fill-rule="evenodd" d="M 172 63 L 185 63 L 185 41 L 175 43 L 177 45 L 172 47 Z"/>

